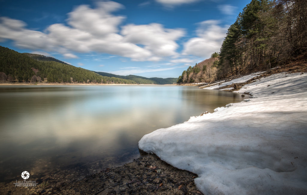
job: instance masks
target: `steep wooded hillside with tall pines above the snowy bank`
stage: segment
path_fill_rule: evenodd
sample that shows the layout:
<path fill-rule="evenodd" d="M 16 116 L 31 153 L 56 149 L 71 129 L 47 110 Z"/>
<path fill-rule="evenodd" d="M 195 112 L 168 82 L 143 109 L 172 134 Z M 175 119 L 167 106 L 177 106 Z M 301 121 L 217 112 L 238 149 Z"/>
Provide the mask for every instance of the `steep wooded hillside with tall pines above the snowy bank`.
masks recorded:
<path fill-rule="evenodd" d="M 307 59 L 307 1 L 252 0 L 220 48 L 190 66 L 177 83 L 212 82 Z"/>

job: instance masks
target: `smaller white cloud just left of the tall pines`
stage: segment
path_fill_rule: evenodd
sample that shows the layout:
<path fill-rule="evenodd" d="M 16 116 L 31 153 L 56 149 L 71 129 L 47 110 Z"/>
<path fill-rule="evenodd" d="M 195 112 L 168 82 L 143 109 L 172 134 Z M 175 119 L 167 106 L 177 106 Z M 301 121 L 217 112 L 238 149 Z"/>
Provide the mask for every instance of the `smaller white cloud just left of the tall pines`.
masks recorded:
<path fill-rule="evenodd" d="M 184 43 L 182 54 L 208 58 L 212 53 L 219 52 L 227 32 L 227 27 L 222 27 L 219 24 L 218 20 L 206 20 L 198 23 L 197 37 Z"/>

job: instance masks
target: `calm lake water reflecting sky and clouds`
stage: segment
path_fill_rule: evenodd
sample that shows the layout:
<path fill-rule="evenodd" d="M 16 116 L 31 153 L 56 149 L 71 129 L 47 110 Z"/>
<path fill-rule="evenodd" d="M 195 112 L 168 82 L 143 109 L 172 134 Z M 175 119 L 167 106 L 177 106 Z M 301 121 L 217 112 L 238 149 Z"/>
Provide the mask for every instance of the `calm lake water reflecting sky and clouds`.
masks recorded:
<path fill-rule="evenodd" d="M 143 135 L 246 98 L 185 86 L 1 86 L 1 181 L 123 164 Z"/>

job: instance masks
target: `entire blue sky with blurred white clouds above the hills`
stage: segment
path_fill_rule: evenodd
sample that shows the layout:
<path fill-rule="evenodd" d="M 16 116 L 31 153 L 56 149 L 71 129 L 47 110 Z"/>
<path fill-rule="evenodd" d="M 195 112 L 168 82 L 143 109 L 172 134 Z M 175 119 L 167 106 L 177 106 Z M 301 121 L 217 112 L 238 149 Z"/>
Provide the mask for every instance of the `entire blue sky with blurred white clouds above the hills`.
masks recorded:
<path fill-rule="evenodd" d="M 118 75 L 178 77 L 250 0 L 0 0 L 0 45 Z"/>

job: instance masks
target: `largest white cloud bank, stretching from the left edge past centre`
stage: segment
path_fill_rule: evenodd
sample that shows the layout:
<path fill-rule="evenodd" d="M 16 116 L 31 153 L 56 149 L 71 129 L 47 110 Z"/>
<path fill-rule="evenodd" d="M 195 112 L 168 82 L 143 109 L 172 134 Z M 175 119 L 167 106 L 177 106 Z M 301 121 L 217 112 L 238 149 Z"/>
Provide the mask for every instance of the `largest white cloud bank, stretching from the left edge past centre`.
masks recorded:
<path fill-rule="evenodd" d="M 108 53 L 134 61 L 159 61 L 177 55 L 176 40 L 184 36 L 182 29 L 166 29 L 160 24 L 126 25 L 125 19 L 112 12 L 123 9 L 112 1 L 77 6 L 68 13 L 67 23 L 50 25 L 44 32 L 29 30 L 23 21 L 0 18 L 0 41 L 10 39 L 20 48 L 57 52 L 66 58 L 78 58 L 78 53 Z"/>

